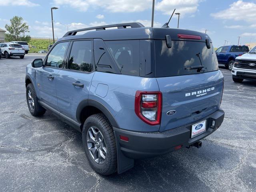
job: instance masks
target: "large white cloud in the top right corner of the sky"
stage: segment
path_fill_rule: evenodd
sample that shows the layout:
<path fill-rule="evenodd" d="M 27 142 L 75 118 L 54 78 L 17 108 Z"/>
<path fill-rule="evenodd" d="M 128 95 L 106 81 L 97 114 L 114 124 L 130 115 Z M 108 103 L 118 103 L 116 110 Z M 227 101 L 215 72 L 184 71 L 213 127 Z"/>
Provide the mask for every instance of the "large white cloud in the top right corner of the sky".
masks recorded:
<path fill-rule="evenodd" d="M 244 2 L 239 0 L 230 4 L 229 8 L 217 13 L 212 13 L 211 16 L 216 19 L 244 20 L 247 22 L 256 21 L 256 4 L 253 2 Z"/>

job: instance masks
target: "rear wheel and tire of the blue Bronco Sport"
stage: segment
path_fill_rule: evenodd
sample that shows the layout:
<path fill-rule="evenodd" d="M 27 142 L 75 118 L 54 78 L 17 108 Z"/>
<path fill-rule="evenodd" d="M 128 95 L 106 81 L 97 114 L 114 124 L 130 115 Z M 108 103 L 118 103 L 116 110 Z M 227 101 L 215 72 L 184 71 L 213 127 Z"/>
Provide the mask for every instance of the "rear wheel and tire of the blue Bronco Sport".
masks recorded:
<path fill-rule="evenodd" d="M 82 131 L 82 140 L 86 157 L 90 166 L 96 172 L 102 175 L 110 175 L 116 172 L 116 140 L 112 126 L 104 114 L 94 114 L 86 119 Z"/>

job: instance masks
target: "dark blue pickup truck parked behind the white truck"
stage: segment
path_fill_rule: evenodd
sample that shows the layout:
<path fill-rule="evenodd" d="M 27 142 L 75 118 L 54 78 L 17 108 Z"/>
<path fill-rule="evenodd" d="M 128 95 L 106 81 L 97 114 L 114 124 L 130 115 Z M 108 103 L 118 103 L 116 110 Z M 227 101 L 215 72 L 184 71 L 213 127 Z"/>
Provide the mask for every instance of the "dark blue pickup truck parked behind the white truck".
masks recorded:
<path fill-rule="evenodd" d="M 237 56 L 241 56 L 245 52 L 248 52 L 249 48 L 248 46 L 236 46 L 236 45 L 230 45 L 230 46 L 222 46 L 216 50 L 216 55 L 218 58 L 219 64 L 224 64 L 226 68 L 229 70 L 232 69 L 232 66 L 235 62 L 235 59 Z"/>

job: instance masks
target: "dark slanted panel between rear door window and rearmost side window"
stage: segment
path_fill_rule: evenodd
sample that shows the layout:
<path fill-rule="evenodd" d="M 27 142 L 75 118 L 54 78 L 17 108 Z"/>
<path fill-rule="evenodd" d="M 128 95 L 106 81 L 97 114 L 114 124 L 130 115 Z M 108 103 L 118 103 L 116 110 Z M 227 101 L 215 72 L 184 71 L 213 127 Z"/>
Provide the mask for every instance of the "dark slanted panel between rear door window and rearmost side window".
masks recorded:
<path fill-rule="evenodd" d="M 120 74 L 102 39 L 94 39 L 94 60 L 97 71 Z"/>

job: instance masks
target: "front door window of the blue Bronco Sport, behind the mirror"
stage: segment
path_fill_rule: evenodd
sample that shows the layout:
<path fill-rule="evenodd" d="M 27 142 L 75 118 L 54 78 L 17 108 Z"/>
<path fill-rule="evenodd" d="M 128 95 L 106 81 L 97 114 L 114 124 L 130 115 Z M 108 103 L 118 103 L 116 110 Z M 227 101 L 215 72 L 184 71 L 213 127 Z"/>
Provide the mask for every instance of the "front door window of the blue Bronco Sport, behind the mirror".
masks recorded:
<path fill-rule="evenodd" d="M 58 43 L 51 50 L 47 57 L 46 66 L 62 68 L 65 52 L 68 48 L 69 42 Z"/>

